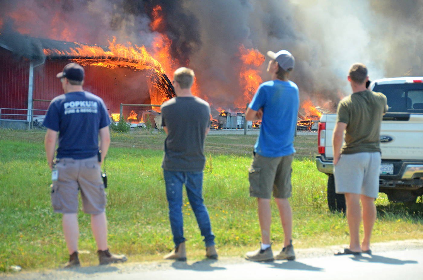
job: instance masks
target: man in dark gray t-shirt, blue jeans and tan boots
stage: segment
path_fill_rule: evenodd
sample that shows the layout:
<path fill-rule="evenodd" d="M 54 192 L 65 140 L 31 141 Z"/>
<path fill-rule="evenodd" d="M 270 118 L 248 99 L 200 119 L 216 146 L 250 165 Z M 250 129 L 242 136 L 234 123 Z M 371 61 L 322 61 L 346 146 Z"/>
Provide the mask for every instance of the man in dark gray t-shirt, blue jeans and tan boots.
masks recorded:
<path fill-rule="evenodd" d="M 173 75 L 176 97 L 164 102 L 162 125 L 165 129 L 165 156 L 163 174 L 169 219 L 175 248 L 165 259 L 186 261 L 185 238 L 182 218 L 182 186 L 185 184 L 188 200 L 197 218 L 201 235 L 206 244 L 206 257 L 217 259 L 214 235 L 209 213 L 203 203 L 204 140 L 210 129 L 210 106 L 191 93 L 194 71 L 181 67 Z"/>

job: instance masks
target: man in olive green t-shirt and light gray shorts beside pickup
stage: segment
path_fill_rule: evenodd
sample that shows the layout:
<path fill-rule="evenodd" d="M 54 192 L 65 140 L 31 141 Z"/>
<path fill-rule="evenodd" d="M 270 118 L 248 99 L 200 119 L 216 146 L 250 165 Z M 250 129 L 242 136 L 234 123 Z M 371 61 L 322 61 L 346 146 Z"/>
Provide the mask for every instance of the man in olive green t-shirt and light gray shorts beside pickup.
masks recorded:
<path fill-rule="evenodd" d="M 382 93 L 366 88 L 367 68 L 362 63 L 351 66 L 348 81 L 353 93 L 338 104 L 332 144 L 335 191 L 345 194 L 350 244 L 349 248 L 335 255 L 371 254 L 370 237 L 376 220 L 374 200 L 379 193 L 380 126 L 382 116 L 387 112 L 387 100 Z M 361 244 L 360 200 L 364 227 Z"/>

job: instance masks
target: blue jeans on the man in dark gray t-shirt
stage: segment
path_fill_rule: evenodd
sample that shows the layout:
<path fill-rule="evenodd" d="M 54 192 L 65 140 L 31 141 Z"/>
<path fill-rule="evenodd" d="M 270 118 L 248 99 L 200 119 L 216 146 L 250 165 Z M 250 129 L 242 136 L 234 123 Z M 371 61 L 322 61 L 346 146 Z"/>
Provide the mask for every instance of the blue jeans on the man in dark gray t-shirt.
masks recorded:
<path fill-rule="evenodd" d="M 173 242 L 177 247 L 184 242 L 184 221 L 182 218 L 182 185 L 187 189 L 192 211 L 197 219 L 201 235 L 204 236 L 206 247 L 214 245 L 214 235 L 211 232 L 210 217 L 203 203 L 203 172 L 180 172 L 163 170 L 166 183 L 166 197 L 169 203 L 169 220 L 172 228 Z"/>

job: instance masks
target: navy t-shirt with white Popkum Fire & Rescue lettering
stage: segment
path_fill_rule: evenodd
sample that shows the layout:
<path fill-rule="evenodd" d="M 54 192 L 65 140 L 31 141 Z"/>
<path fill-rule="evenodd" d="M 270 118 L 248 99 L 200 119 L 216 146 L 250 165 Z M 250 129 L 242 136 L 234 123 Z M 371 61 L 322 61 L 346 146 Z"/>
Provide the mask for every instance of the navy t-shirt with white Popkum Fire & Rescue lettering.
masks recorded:
<path fill-rule="evenodd" d="M 57 157 L 86 159 L 99 150 L 99 129 L 110 124 L 103 99 L 87 91 L 55 97 L 43 125 L 59 132 Z"/>

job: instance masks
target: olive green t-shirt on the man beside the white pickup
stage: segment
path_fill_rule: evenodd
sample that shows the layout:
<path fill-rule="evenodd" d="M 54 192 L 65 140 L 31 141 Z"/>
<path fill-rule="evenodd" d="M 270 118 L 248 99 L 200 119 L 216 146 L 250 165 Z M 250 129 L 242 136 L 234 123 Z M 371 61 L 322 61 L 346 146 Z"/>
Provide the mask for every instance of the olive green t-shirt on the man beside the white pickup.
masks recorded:
<path fill-rule="evenodd" d="M 341 154 L 380 152 L 380 125 L 387 112 L 386 96 L 359 91 L 338 104 L 336 122 L 347 124 Z"/>

